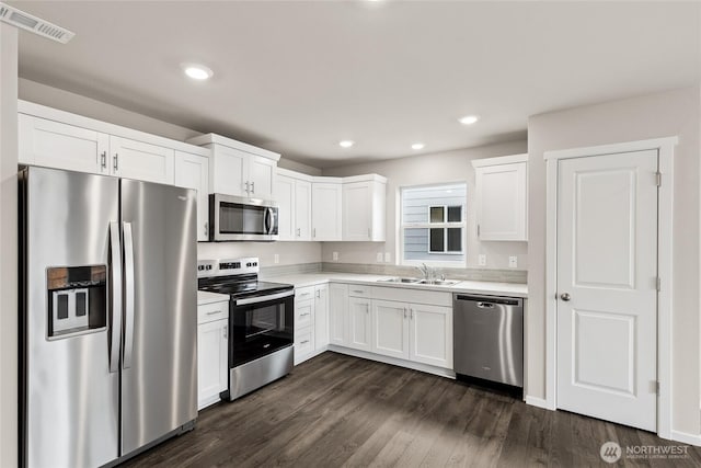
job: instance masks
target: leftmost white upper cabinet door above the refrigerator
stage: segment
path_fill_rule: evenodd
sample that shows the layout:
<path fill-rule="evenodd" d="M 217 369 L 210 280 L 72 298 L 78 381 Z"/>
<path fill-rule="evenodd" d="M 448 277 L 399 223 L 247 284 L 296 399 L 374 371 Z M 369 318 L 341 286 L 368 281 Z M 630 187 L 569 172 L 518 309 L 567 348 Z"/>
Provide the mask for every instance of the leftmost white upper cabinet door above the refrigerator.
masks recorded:
<path fill-rule="evenodd" d="M 106 134 L 25 114 L 18 118 L 21 163 L 90 173 L 106 170 Z"/>

